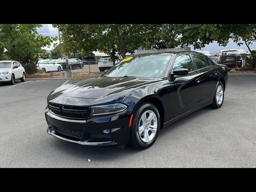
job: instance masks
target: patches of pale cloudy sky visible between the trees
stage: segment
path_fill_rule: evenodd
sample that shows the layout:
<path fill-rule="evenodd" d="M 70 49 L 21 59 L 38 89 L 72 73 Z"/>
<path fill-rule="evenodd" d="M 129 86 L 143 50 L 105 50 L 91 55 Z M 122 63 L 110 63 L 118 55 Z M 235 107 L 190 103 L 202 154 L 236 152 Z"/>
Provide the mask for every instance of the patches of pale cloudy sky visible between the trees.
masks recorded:
<path fill-rule="evenodd" d="M 43 27 L 41 29 L 38 28 L 38 33 L 42 34 L 43 36 L 51 36 L 55 37 L 58 36 L 58 28 L 53 28 L 52 24 L 43 24 Z M 191 50 L 194 50 L 192 46 Z M 252 45 L 250 45 L 251 49 L 256 49 L 256 42 L 253 42 Z M 51 50 L 53 49 L 53 45 L 50 46 L 50 48 L 44 47 L 44 49 Z M 234 43 L 232 40 L 227 44 L 227 46 L 219 46 L 217 42 L 210 43 L 206 45 L 204 48 L 201 50 L 195 49 L 195 51 L 210 51 L 212 55 L 215 55 L 218 51 L 223 50 L 223 49 L 244 49 L 248 51 L 248 48 L 246 45 L 241 45 L 237 46 L 236 43 Z"/>

